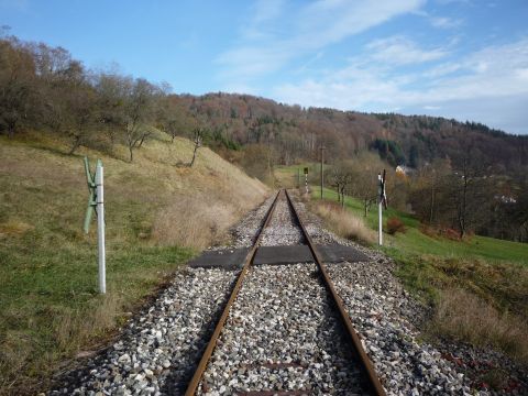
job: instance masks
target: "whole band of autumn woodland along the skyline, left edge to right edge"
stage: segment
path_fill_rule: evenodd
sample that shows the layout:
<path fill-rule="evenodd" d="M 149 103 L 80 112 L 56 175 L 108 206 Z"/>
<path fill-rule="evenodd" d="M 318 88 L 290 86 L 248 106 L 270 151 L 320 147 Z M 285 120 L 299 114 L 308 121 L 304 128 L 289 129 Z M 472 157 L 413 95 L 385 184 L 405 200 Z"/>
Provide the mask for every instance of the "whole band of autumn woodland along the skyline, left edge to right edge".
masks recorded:
<path fill-rule="evenodd" d="M 471 160 L 486 174 L 514 175 L 528 164 L 526 135 L 480 123 L 305 109 L 249 95 L 172 95 L 164 85 L 89 70 L 64 48 L 14 36 L 0 37 L 0 134 L 51 131 L 70 139 L 70 154 L 124 144 L 132 161 L 155 128 L 205 142 L 246 169 L 316 160 L 321 145 L 330 162 L 373 150 L 393 166 L 415 168 L 449 158 L 457 169 Z"/>

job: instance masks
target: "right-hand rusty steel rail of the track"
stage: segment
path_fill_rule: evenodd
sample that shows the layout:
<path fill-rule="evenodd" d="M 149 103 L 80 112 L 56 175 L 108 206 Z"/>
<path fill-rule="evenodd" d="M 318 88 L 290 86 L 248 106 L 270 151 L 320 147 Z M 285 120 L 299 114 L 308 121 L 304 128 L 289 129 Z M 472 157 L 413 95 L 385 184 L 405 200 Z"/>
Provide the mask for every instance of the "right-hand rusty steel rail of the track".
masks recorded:
<path fill-rule="evenodd" d="M 297 219 L 297 222 L 300 226 L 300 229 L 302 230 L 304 237 L 306 239 L 306 242 L 311 251 L 311 254 L 314 255 L 314 258 L 319 267 L 319 271 L 321 272 L 322 278 L 324 280 L 324 285 L 327 286 L 328 290 L 330 292 L 330 295 L 332 296 L 333 302 L 337 306 L 339 310 L 339 315 L 341 317 L 341 320 L 346 329 L 346 332 L 350 337 L 350 340 L 352 341 L 352 346 L 354 349 L 355 355 L 360 360 L 360 363 L 362 365 L 363 371 L 366 374 L 366 377 L 369 380 L 369 387 L 370 392 L 372 395 L 376 396 L 386 396 L 385 389 L 383 388 L 382 383 L 380 382 L 380 378 L 376 374 L 376 371 L 374 370 L 374 365 L 372 364 L 371 360 L 369 359 L 369 355 L 366 354 L 365 350 L 363 349 L 363 345 L 361 344 L 360 337 L 355 332 L 355 329 L 352 324 L 352 321 L 350 319 L 349 314 L 346 312 L 346 309 L 344 308 L 343 300 L 339 296 L 338 292 L 336 290 L 336 287 L 333 286 L 332 280 L 330 279 L 330 276 L 328 275 L 327 268 L 322 264 L 321 255 L 317 251 L 316 246 L 314 245 L 314 242 L 311 241 L 310 235 L 308 234 L 308 231 L 305 228 L 305 224 L 302 223 L 299 213 L 297 212 L 297 209 L 294 206 L 294 202 L 288 194 L 288 190 L 286 191 L 286 198 L 292 207 L 292 210 L 294 211 L 294 215 Z"/>

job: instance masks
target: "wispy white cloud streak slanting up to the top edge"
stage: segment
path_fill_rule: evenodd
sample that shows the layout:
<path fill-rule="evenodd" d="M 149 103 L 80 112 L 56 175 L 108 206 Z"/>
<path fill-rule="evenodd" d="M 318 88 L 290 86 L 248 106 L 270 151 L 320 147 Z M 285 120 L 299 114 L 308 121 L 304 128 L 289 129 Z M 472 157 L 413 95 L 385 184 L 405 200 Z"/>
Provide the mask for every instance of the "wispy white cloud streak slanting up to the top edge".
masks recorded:
<path fill-rule="evenodd" d="M 298 10 L 295 16 L 282 15 L 283 3 L 277 2 L 267 12 L 273 18 L 253 18 L 243 30 L 241 42 L 217 57 L 221 66 L 219 77 L 229 84 L 276 72 L 293 59 L 418 10 L 424 1 L 318 0 Z"/>

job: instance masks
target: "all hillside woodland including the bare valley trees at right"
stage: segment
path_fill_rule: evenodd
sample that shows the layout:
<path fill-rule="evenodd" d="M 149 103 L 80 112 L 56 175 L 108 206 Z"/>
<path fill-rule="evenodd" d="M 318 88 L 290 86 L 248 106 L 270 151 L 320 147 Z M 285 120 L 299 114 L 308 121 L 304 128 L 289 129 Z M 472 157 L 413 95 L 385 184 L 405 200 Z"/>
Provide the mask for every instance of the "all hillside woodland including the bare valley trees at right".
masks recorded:
<path fill-rule="evenodd" d="M 328 180 L 349 195 L 367 193 L 369 202 L 375 185 L 342 180 L 371 183 L 367 173 L 408 165 L 417 177 L 387 187 L 395 207 L 410 206 L 420 220 L 457 228 L 461 237 L 528 240 L 528 138 L 479 123 L 302 109 L 248 95 L 173 95 L 143 78 L 86 69 L 64 48 L 9 36 L 0 37 L 0 134 L 65 142 L 64 154 L 88 147 L 130 163 L 152 141 L 187 136 L 188 167 L 205 144 L 270 184 L 275 165 L 317 161 L 324 146 L 334 165 Z"/>

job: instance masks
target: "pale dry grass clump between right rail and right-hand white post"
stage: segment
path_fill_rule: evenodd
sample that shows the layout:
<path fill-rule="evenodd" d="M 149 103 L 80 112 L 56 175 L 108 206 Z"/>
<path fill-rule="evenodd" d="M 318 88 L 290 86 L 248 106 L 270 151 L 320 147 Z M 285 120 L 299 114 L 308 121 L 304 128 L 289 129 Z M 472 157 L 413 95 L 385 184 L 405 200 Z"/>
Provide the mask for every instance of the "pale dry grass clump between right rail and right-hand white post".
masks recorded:
<path fill-rule="evenodd" d="M 367 245 L 375 243 L 374 231 L 365 226 L 363 219 L 354 216 L 350 210 L 342 209 L 333 202 L 317 202 L 315 210 L 338 235 Z"/>

